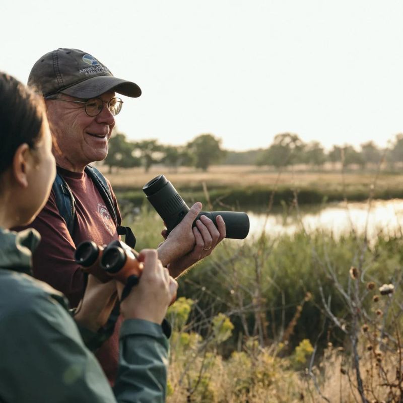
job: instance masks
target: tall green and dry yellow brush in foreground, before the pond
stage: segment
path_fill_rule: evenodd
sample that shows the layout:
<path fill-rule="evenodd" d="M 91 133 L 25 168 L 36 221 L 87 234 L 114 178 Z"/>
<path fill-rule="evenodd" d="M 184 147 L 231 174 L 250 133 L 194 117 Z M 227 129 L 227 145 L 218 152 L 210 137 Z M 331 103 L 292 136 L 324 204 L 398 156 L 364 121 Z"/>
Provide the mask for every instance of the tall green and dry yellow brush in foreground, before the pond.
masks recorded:
<path fill-rule="evenodd" d="M 161 240 L 146 209 L 126 224 L 139 250 Z M 353 232 L 225 240 L 179 279 L 167 402 L 402 401 L 402 251 Z"/>

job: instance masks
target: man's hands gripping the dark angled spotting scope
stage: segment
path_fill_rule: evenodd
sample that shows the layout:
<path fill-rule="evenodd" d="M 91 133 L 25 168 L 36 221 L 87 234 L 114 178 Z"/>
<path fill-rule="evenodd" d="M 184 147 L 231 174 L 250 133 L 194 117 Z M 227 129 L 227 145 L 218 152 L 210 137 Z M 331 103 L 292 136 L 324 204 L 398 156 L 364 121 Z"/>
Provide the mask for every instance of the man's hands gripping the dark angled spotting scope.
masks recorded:
<path fill-rule="evenodd" d="M 165 241 L 159 245 L 158 255 L 173 277 L 179 276 L 186 268 L 210 255 L 225 238 L 225 223 L 221 216 L 216 218 L 218 228 L 206 216 L 201 216 L 192 228 L 200 211 L 201 203 L 195 203 L 168 236 L 166 230 L 161 232 Z"/>

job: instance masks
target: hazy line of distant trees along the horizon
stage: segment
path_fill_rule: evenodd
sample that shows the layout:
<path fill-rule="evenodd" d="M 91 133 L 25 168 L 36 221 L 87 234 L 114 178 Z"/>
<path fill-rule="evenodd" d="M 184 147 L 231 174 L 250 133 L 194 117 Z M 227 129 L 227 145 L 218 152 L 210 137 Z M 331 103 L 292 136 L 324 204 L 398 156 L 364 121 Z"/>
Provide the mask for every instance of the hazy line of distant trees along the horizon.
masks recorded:
<path fill-rule="evenodd" d="M 387 152 L 386 152 L 387 151 Z M 115 131 L 109 141 L 109 153 L 104 163 L 113 168 L 144 167 L 148 172 L 155 164 L 177 169 L 180 166 L 195 167 L 207 171 L 212 164 L 256 165 L 285 168 L 304 164 L 312 169 L 322 169 L 326 163 L 342 164 L 345 168 L 366 169 L 385 162 L 393 170 L 403 162 L 403 134 L 395 136 L 388 150 L 369 141 L 359 150 L 351 145 L 336 146 L 325 151 L 317 142 L 305 143 L 295 133 L 281 133 L 266 149 L 245 152 L 222 148 L 222 140 L 202 134 L 183 146 L 163 145 L 158 140 L 129 141 L 123 133 Z"/>

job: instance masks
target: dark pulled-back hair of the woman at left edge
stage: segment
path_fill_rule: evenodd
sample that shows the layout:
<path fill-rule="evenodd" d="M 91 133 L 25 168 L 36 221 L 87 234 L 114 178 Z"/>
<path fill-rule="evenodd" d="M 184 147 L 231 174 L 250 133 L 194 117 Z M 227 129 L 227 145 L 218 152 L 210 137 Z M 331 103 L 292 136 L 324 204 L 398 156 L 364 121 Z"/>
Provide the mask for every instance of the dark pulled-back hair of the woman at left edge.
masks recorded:
<path fill-rule="evenodd" d="M 35 148 L 40 141 L 44 111 L 41 96 L 0 72 L 0 174 L 9 168 L 21 144 Z"/>

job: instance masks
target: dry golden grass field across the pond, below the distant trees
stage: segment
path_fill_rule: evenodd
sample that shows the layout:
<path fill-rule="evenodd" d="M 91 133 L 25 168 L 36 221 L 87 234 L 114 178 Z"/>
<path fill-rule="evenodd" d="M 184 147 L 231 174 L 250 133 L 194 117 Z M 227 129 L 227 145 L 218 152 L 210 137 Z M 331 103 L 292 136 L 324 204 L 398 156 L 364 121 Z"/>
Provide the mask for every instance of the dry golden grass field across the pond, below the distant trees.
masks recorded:
<path fill-rule="evenodd" d="M 149 172 L 142 168 L 108 173 L 119 199 L 136 205 L 144 201 L 142 187 L 157 175 L 164 174 L 187 201 L 210 201 L 227 206 L 266 206 L 275 192 L 274 204 L 290 203 L 298 193 L 300 204 L 318 204 L 329 201 L 365 200 L 373 191 L 376 198 L 403 197 L 403 175 L 399 173 L 349 171 L 284 171 L 275 172 L 255 166 L 212 166 L 202 172 L 181 167 L 176 172 L 166 167 L 153 167 Z M 206 192 L 207 190 L 207 192 Z M 209 196 L 207 196 L 207 194 Z"/>

